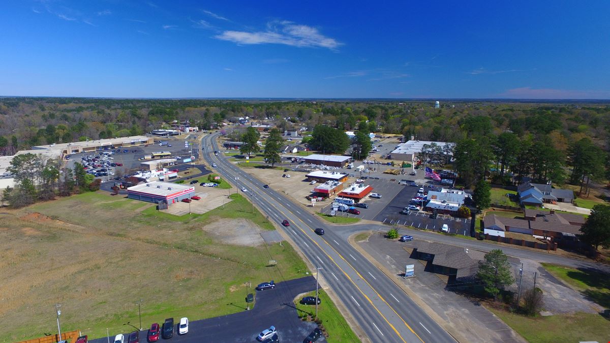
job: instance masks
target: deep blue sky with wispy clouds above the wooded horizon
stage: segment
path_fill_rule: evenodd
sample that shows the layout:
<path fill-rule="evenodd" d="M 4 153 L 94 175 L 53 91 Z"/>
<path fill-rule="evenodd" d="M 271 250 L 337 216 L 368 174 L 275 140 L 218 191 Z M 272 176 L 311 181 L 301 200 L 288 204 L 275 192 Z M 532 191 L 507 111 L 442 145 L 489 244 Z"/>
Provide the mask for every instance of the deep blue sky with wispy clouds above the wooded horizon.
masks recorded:
<path fill-rule="evenodd" d="M 608 13 L 610 1 L 2 1 L 0 95 L 610 99 Z"/>

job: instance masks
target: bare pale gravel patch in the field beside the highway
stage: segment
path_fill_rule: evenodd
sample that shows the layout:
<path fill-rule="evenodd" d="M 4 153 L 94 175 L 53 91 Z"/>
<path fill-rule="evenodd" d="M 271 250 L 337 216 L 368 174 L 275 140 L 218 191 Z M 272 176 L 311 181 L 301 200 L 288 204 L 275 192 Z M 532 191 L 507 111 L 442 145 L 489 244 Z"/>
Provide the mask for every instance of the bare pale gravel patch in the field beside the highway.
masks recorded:
<path fill-rule="evenodd" d="M 259 226 L 246 219 L 219 219 L 206 223 L 203 229 L 224 244 L 257 247 L 264 243 Z"/>

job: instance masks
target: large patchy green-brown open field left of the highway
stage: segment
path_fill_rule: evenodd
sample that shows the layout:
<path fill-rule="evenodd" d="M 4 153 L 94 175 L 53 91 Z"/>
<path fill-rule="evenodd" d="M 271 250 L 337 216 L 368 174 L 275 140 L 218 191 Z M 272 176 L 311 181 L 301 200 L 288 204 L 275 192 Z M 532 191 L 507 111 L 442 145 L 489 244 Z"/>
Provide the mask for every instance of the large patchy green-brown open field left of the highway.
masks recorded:
<path fill-rule="evenodd" d="M 62 331 L 89 338 L 166 317 L 191 320 L 243 311 L 243 284 L 290 280 L 307 267 L 284 242 L 236 246 L 218 242 L 206 225 L 245 218 L 273 229 L 241 195 L 203 215 L 162 214 L 153 204 L 84 193 L 0 214 L 1 341 L 52 333 L 54 304 Z M 228 218 L 228 219 L 224 219 Z M 275 259 L 278 265 L 267 267 Z M 24 321 L 27 318 L 27 321 Z"/>

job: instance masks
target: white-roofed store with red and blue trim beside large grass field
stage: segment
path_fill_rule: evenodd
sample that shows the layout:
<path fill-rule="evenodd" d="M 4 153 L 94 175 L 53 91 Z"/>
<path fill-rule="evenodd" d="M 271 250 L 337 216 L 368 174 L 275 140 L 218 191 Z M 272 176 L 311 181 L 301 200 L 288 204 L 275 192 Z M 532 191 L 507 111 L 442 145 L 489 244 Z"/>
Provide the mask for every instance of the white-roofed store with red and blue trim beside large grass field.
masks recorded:
<path fill-rule="evenodd" d="M 195 187 L 171 182 L 151 181 L 127 188 L 127 198 L 167 204 L 178 203 L 182 199 L 195 195 Z"/>

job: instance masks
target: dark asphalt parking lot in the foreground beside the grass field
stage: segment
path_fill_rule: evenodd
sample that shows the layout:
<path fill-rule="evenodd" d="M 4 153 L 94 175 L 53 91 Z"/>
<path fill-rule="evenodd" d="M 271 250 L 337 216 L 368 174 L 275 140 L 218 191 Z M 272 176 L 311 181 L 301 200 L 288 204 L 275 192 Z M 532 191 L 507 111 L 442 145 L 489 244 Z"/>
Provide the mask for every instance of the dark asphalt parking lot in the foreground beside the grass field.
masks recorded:
<path fill-rule="evenodd" d="M 256 286 L 253 284 L 253 286 Z M 257 342 L 260 331 L 273 325 L 278 330 L 281 342 L 303 342 L 317 325 L 313 322 L 303 322 L 296 313 L 293 299 L 306 292 L 315 290 L 315 278 L 307 276 L 295 280 L 277 283 L 275 289 L 256 292 L 254 308 L 246 311 L 245 303 L 227 304 L 241 308 L 242 311 L 228 316 L 203 320 L 192 320 L 188 324 L 188 334 L 176 334 L 175 323 L 179 317 L 174 317 L 173 342 Z M 205 314 L 203 314 L 205 316 Z M 163 323 L 159 317 L 158 323 Z M 144 324 L 147 328 L 148 324 Z M 146 330 L 140 331 L 140 342 L 146 342 Z M 110 339 L 117 333 L 112 333 Z M 128 334 L 128 333 L 123 333 Z M 162 341 L 162 340 L 160 340 Z M 90 340 L 91 343 L 107 343 L 107 338 Z M 317 342 L 326 342 L 324 337 Z"/>

